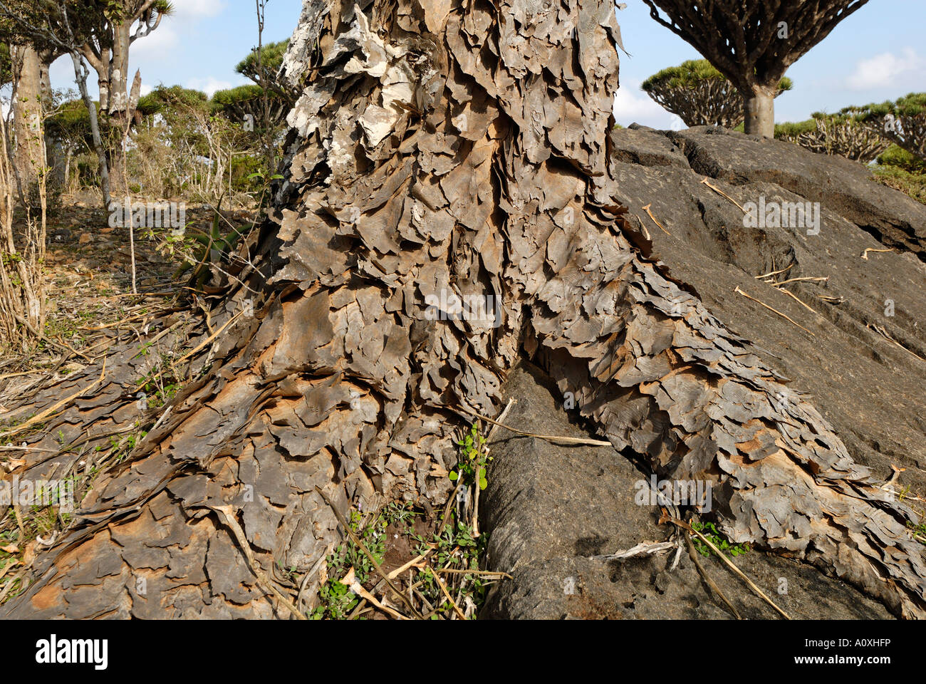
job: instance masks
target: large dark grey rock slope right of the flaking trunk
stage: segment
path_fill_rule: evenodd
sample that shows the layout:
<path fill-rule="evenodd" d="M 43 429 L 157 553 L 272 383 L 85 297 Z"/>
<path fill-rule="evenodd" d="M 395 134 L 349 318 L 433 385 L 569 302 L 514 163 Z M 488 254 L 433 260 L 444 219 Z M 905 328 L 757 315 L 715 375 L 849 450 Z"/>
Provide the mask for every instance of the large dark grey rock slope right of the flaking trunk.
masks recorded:
<path fill-rule="evenodd" d="M 857 162 L 723 129 L 631 128 L 611 141 L 620 198 L 652 237 L 654 256 L 728 328 L 767 350 L 792 387 L 813 395 L 857 462 L 885 479 L 892 465 L 906 467 L 901 483 L 926 496 L 926 206 L 870 181 Z M 745 228 L 743 211 L 705 178 L 743 206 L 761 196 L 820 202 L 820 234 Z M 903 239 L 902 251 L 860 257 Z M 829 278 L 786 286 L 814 311 L 755 278 L 785 268 L 780 282 Z"/>

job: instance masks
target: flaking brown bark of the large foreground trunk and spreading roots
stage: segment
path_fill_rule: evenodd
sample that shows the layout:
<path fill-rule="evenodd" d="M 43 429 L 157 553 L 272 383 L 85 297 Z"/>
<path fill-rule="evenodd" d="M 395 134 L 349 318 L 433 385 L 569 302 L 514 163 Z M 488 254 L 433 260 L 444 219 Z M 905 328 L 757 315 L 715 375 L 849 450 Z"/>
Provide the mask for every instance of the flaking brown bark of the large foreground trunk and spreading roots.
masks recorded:
<path fill-rule="evenodd" d="M 442 500 L 455 408 L 497 412 L 526 352 L 617 449 L 713 480 L 730 538 L 922 616 L 912 513 L 625 220 L 608 161 L 618 40 L 599 0 L 306 0 L 284 61 L 303 88 L 286 180 L 211 321 L 236 318 L 0 615 L 285 616 L 217 510 L 264 573 L 317 568 L 338 532 L 315 486 L 343 510 Z M 497 297 L 501 324 L 432 320 L 442 290 Z M 112 377 L 47 435 L 133 418 Z"/>

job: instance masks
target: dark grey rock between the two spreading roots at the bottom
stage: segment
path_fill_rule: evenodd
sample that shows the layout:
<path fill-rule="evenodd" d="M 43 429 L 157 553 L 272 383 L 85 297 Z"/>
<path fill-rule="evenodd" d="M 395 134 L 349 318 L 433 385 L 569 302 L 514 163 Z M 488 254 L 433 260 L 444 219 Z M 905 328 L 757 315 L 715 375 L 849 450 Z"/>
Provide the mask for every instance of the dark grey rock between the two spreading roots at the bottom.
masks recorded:
<path fill-rule="evenodd" d="M 575 412 L 548 388 L 540 369 L 525 362 L 507 383 L 516 397 L 506 423 L 544 435 L 586 437 Z M 669 570 L 675 551 L 621 561 L 595 559 L 647 541 L 663 541 L 655 506 L 634 503 L 643 472 L 609 447 L 562 447 L 497 431 L 482 507 L 491 530 L 490 566 L 511 573 L 496 585 L 482 617 L 506 619 L 725 619 L 687 552 Z M 778 614 L 716 557 L 698 557 L 745 618 Z M 807 564 L 749 551 L 732 559 L 793 618 L 876 619 L 890 614 L 852 587 Z M 783 580 L 783 583 L 782 583 Z M 784 584 L 786 583 L 786 584 Z M 787 592 L 780 594 L 779 588 Z"/>

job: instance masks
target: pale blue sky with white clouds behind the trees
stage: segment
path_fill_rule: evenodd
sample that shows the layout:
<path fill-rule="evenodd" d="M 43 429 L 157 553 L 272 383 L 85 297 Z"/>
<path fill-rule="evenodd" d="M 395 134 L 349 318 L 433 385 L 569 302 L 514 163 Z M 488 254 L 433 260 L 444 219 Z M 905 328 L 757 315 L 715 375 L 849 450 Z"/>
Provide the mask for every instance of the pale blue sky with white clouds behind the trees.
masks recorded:
<path fill-rule="evenodd" d="M 615 115 L 657 128 L 679 127 L 640 90 L 656 71 L 700 57 L 689 44 L 649 18 L 642 0 L 618 12 L 624 46 Z M 253 0 L 175 0 L 177 13 L 131 47 L 132 70 L 144 91 L 158 83 L 205 90 L 246 82 L 234 65 L 257 44 Z M 301 0 L 270 0 L 265 42 L 288 38 Z M 788 70 L 795 88 L 776 100 L 776 120 L 804 120 L 814 111 L 881 102 L 926 91 L 926 0 L 870 0 Z M 52 67 L 56 88 L 75 87 L 69 59 Z M 95 84 L 94 84 L 95 86 Z M 95 87 L 94 87 L 95 91 Z"/>

